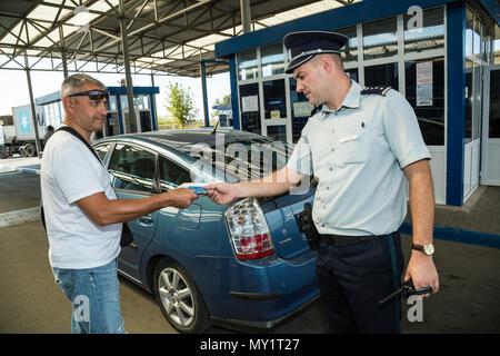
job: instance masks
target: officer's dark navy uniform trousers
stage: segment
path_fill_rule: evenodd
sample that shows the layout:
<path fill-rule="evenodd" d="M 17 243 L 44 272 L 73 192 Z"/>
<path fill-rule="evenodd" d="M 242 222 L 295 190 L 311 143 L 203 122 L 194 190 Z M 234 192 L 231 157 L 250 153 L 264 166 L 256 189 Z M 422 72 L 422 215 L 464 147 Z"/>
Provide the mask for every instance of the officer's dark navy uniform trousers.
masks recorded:
<path fill-rule="evenodd" d="M 401 286 L 403 268 L 399 233 L 347 246 L 321 241 L 316 269 L 330 333 L 400 333 L 400 298 L 379 300 Z"/>

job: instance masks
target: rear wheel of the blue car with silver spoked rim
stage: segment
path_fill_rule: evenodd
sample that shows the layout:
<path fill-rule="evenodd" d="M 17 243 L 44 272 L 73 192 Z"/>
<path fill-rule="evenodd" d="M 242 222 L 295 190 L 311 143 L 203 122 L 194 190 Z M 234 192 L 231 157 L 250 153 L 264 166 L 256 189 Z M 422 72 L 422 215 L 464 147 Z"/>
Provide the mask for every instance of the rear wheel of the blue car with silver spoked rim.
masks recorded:
<path fill-rule="evenodd" d="M 178 263 L 162 258 L 154 267 L 154 296 L 167 320 L 184 334 L 204 333 L 210 328 L 210 315 L 203 298 Z"/>

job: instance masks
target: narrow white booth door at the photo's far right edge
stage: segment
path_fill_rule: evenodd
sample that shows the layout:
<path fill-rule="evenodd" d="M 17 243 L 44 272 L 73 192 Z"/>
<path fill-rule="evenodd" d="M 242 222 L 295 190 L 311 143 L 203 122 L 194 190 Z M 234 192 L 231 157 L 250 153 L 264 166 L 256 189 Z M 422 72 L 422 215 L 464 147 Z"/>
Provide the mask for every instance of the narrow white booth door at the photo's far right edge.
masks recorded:
<path fill-rule="evenodd" d="M 500 65 L 484 68 L 481 185 L 500 186 Z"/>

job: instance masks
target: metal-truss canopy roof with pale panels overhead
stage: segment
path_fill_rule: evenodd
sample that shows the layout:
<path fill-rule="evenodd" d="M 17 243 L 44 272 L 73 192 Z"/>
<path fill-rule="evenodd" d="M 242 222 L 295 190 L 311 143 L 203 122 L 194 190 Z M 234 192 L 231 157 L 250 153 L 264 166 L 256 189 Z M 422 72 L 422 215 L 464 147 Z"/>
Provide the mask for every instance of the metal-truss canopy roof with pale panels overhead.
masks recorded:
<path fill-rule="evenodd" d="M 214 43 L 242 33 L 239 0 L 123 0 L 123 11 L 119 1 L 1 0 L 0 69 L 62 70 L 66 56 L 69 71 L 123 72 L 124 18 L 132 73 L 199 77 Z M 252 0 L 252 30 L 358 1 Z"/>

